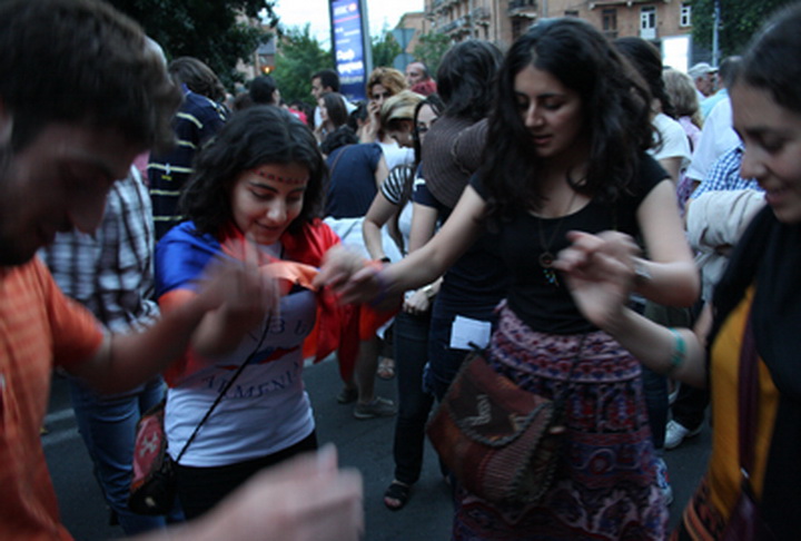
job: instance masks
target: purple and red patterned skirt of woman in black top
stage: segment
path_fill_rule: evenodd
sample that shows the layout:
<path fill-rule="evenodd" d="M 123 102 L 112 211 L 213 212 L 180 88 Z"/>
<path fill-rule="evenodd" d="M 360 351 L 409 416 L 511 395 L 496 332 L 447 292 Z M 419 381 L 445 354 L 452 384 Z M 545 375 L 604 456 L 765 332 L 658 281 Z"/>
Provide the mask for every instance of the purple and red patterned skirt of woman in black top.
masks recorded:
<path fill-rule="evenodd" d="M 554 397 L 567 385 L 562 462 L 535 506 L 498 506 L 457 489 L 453 539 L 664 539 L 637 360 L 603 332 L 583 342 L 535 333 L 505 306 L 490 348 L 491 365 L 522 388 Z"/>

